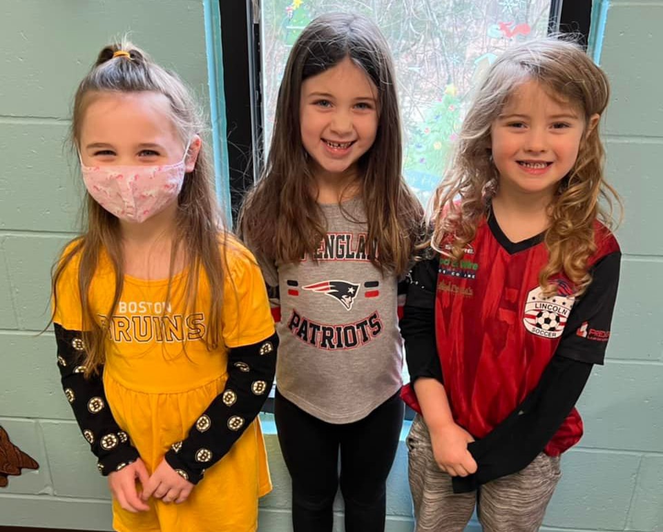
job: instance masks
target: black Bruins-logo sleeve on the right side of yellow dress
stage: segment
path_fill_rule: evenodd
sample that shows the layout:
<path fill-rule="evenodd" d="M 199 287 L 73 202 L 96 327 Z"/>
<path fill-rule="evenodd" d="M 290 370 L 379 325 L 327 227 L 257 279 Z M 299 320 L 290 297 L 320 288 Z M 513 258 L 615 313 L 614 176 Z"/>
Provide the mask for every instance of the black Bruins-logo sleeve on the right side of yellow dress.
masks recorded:
<path fill-rule="evenodd" d="M 189 430 L 166 453 L 166 462 L 182 477 L 198 484 L 206 468 L 213 466 L 240 438 L 265 403 L 276 372 L 278 336 L 231 348 L 228 380 Z"/>

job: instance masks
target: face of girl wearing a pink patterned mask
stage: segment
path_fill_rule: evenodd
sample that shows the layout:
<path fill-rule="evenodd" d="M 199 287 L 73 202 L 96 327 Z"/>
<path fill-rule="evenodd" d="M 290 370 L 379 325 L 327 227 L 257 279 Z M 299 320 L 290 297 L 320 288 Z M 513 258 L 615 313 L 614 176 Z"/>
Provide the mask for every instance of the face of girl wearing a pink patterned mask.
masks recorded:
<path fill-rule="evenodd" d="M 148 218 L 153 226 L 172 224 L 184 177 L 177 163 L 186 147 L 168 97 L 153 91 L 100 91 L 87 97 L 78 147 L 90 196 L 125 229 Z M 184 173 L 193 171 L 200 145 L 193 135 Z"/>

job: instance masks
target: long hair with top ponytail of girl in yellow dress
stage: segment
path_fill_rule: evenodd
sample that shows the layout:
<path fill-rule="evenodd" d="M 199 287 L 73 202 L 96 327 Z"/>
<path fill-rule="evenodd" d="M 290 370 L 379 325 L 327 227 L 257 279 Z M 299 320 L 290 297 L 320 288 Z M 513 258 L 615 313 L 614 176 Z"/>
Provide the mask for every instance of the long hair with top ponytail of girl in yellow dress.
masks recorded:
<path fill-rule="evenodd" d="M 129 53 L 129 57 L 113 54 L 118 50 Z M 73 149 L 80 144 L 81 124 L 85 120 L 90 96 L 98 92 L 131 93 L 152 91 L 165 95 L 170 102 L 171 119 L 177 133 L 186 144 L 193 135 L 202 132 L 202 120 L 191 93 L 175 73 L 155 64 L 146 53 L 128 41 L 106 46 L 97 57 L 90 72 L 81 81 L 73 104 L 70 140 Z M 220 215 L 211 189 L 213 170 L 204 151 L 198 153 L 193 171 L 186 173 L 184 184 L 177 198 L 176 231 L 171 247 L 169 285 L 171 294 L 173 268 L 178 251 L 184 252 L 189 273 L 186 278 L 187 305 L 195 301 L 199 272 L 202 269 L 209 282 L 211 307 L 209 327 L 205 341 L 208 349 L 221 342 L 221 305 L 224 280 L 224 256 L 220 244 L 226 239 L 220 231 Z M 86 375 L 97 372 L 104 363 L 104 341 L 111 327 L 111 316 L 122 295 L 124 281 L 124 256 L 119 222 L 86 192 L 83 234 L 73 241 L 58 263 L 53 267 L 53 309 L 57 307 L 57 282 L 66 267 L 76 258 L 78 267 L 78 289 L 83 315 L 83 336 L 86 345 Z M 90 284 L 93 281 L 99 259 L 107 254 L 115 272 L 113 303 L 105 318 L 95 319 L 90 302 Z"/>

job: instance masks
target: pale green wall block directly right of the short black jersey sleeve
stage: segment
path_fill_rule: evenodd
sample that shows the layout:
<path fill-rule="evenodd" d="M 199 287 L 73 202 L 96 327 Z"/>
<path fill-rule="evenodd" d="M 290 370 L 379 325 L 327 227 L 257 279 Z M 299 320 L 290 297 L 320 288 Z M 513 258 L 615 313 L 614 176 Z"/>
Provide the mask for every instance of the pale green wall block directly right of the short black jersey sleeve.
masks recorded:
<path fill-rule="evenodd" d="M 663 354 L 663 261 L 622 258 L 622 273 L 613 316 L 608 365 L 613 359 L 660 361 Z"/>

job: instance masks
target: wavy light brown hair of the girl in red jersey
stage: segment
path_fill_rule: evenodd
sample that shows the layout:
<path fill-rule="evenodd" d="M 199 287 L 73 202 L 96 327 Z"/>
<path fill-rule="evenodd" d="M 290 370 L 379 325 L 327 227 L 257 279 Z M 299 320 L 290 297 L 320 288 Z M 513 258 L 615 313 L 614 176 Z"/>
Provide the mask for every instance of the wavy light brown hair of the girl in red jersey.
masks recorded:
<path fill-rule="evenodd" d="M 613 205 L 621 209 L 622 204 L 604 178 L 605 152 L 599 125 L 589 128 L 590 117 L 602 115 L 608 104 L 608 79 L 569 39 L 528 41 L 506 50 L 492 64 L 474 95 L 454 158 L 436 191 L 433 243 L 442 251 L 443 242 L 450 243 L 450 254 L 461 258 L 463 249 L 474 239 L 499 187 L 499 174 L 490 157 L 491 125 L 517 88 L 529 81 L 539 83 L 550 97 L 577 108 L 585 120 L 577 160 L 559 182 L 549 206 L 545 243 L 550 257 L 539 275 L 547 295 L 554 291 L 550 277 L 560 272 L 575 283 L 577 294 L 582 294 L 591 282 L 588 259 L 596 251 L 595 222 L 612 227 Z"/>

